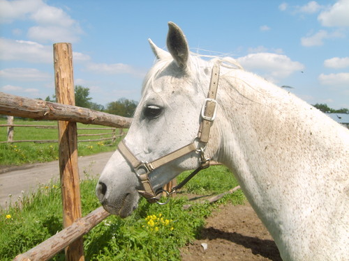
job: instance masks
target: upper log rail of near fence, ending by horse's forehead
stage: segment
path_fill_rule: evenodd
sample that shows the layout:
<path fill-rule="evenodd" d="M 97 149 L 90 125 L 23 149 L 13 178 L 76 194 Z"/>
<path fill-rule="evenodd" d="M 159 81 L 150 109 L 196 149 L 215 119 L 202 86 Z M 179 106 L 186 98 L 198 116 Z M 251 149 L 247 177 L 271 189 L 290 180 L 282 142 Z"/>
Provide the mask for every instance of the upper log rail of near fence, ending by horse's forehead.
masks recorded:
<path fill-rule="evenodd" d="M 0 92 L 0 114 L 37 120 L 67 120 L 84 124 L 128 128 L 132 118 L 116 116 L 73 105 L 34 100 Z"/>

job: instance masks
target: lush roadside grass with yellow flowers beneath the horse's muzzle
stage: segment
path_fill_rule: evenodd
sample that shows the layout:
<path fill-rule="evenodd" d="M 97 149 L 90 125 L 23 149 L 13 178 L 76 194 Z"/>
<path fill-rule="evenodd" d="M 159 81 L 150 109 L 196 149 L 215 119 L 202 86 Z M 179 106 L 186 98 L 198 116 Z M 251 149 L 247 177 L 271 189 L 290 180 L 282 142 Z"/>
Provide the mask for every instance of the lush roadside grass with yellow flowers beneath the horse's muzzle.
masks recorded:
<path fill-rule="evenodd" d="M 179 175 L 178 181 L 185 176 L 186 173 Z M 83 215 L 100 206 L 94 193 L 96 182 L 93 179 L 81 182 Z M 188 182 L 184 192 L 221 193 L 236 185 L 225 167 L 214 166 Z M 205 218 L 216 205 L 228 201 L 238 204 L 243 200 L 243 193 L 237 191 L 216 204 L 194 204 L 184 210 L 183 205 L 193 203 L 181 193 L 167 205 L 149 204 L 142 199 L 128 218 L 109 216 L 84 236 L 85 260 L 180 260 L 179 248 L 200 235 Z M 0 210 L 1 260 L 12 260 L 43 242 L 61 230 L 61 224 L 61 192 L 57 182 L 23 195 L 21 206 L 17 203 Z M 64 253 L 53 260 L 64 260 Z"/>

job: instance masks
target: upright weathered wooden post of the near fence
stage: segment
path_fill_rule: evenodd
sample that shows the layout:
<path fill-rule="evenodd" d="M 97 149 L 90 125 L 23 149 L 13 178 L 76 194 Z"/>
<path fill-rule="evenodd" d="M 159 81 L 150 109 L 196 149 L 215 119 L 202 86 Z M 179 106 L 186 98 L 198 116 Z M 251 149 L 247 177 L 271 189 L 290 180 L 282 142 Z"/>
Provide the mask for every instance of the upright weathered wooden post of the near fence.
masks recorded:
<path fill-rule="evenodd" d="M 75 105 L 73 81 L 73 51 L 70 43 L 53 45 L 54 82 L 57 102 Z M 59 129 L 59 172 L 63 204 L 64 228 L 70 226 L 81 214 L 80 179 L 77 166 L 76 122 L 58 122 Z M 84 260 L 82 237 L 66 247 L 66 260 Z"/>

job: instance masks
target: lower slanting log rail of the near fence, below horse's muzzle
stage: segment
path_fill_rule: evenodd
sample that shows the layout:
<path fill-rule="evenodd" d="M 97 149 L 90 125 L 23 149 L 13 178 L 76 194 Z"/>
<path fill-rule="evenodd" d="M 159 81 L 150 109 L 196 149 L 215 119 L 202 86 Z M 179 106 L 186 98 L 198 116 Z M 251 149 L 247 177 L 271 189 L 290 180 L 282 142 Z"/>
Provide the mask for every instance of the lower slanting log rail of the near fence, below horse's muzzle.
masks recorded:
<path fill-rule="evenodd" d="M 38 246 L 31 248 L 26 253 L 17 255 L 13 261 L 49 260 L 76 239 L 87 234 L 89 230 L 94 228 L 98 223 L 101 223 L 109 215 L 103 207 L 98 207 L 98 209 L 95 209 L 87 216 L 77 219 L 68 228 L 64 228 L 64 230 L 46 239 L 41 244 L 38 244 Z"/>

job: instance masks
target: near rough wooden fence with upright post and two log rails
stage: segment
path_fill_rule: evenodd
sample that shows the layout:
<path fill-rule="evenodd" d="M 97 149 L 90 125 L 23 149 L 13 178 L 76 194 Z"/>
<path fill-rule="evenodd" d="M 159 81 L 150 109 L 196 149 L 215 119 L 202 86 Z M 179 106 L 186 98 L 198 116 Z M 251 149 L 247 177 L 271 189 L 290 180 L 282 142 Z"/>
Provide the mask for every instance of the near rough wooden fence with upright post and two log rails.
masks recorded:
<path fill-rule="evenodd" d="M 54 44 L 54 77 L 58 103 L 0 93 L 0 114 L 59 121 L 59 168 L 64 230 L 26 253 L 17 255 L 15 260 L 48 260 L 65 248 L 66 260 L 82 261 L 82 235 L 109 215 L 103 207 L 85 217 L 81 215 L 76 122 L 128 128 L 131 118 L 74 106 L 72 56 L 70 44 Z"/>

